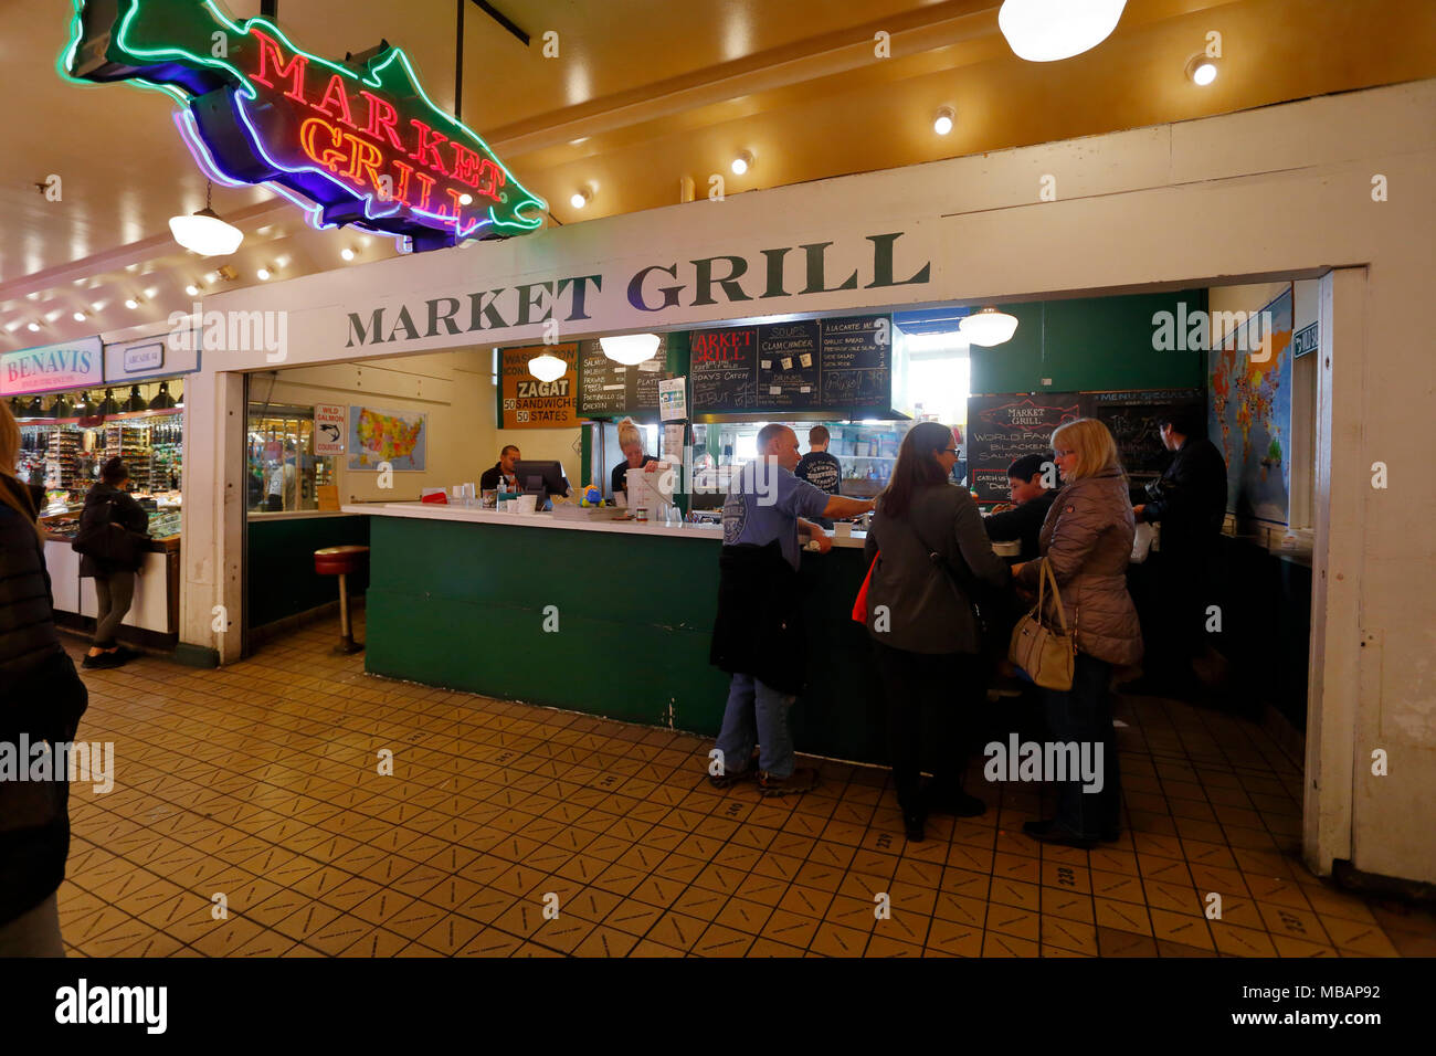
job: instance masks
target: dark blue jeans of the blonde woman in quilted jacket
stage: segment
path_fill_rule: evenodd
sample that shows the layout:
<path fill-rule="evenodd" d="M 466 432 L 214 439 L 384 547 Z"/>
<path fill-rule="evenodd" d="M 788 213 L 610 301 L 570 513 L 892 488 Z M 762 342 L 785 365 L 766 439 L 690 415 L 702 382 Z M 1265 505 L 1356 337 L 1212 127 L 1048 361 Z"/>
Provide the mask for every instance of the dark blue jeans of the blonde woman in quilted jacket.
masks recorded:
<path fill-rule="evenodd" d="M 1057 783 L 1057 826 L 1088 839 L 1114 832 L 1122 822 L 1122 776 L 1117 737 L 1111 728 L 1111 664 L 1077 654 L 1073 688 L 1047 690 L 1047 731 L 1054 741 L 1101 746 L 1101 792 L 1084 792 L 1083 782 Z"/>

